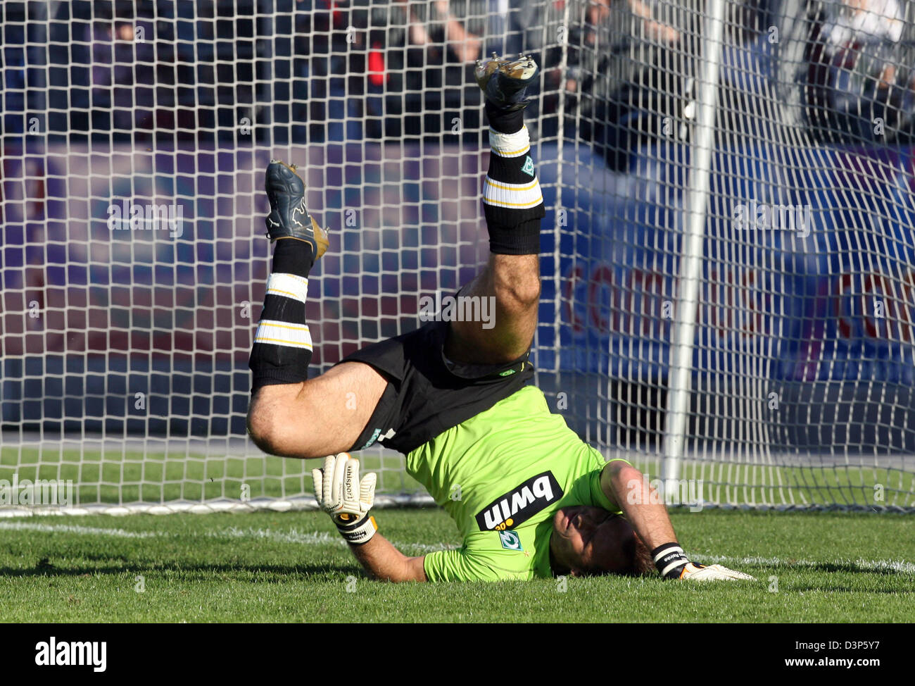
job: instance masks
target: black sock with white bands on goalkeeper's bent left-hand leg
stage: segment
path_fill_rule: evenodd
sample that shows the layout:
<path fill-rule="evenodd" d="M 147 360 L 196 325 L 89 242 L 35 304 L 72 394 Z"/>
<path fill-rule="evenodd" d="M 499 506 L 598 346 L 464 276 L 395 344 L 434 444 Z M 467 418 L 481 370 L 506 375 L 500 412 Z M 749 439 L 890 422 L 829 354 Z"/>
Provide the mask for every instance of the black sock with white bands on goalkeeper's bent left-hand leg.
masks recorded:
<path fill-rule="evenodd" d="M 264 310 L 254 333 L 248 366 L 252 393 L 262 386 L 295 384 L 308 378 L 311 333 L 305 321 L 311 245 L 295 238 L 275 243 Z"/>

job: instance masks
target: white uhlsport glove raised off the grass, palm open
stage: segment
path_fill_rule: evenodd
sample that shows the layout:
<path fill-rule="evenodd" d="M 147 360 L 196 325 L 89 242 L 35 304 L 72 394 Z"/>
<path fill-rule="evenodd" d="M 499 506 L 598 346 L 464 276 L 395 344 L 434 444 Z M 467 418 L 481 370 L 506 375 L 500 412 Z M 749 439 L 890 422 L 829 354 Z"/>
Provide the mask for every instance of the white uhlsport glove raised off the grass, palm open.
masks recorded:
<path fill-rule="evenodd" d="M 324 467 L 311 470 L 318 506 L 330 515 L 343 538 L 361 544 L 375 535 L 378 525 L 368 513 L 375 503 L 377 474 L 359 479 L 359 460 L 347 452 L 328 455 Z"/>

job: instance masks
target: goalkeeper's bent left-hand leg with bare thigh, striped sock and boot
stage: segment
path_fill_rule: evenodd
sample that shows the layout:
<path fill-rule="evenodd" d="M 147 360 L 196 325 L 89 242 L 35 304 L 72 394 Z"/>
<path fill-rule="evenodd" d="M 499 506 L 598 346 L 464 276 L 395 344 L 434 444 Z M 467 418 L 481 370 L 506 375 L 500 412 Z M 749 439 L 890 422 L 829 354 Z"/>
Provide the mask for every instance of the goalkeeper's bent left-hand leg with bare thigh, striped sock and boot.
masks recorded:
<path fill-rule="evenodd" d="M 305 182 L 295 167 L 271 160 L 265 188 L 271 207 L 266 227 L 275 246 L 249 362 L 254 393 L 248 432 L 274 455 L 308 458 L 347 451 L 371 419 L 387 380 L 358 362 L 308 378 L 308 275 L 327 248 L 327 236 L 304 209 Z"/>

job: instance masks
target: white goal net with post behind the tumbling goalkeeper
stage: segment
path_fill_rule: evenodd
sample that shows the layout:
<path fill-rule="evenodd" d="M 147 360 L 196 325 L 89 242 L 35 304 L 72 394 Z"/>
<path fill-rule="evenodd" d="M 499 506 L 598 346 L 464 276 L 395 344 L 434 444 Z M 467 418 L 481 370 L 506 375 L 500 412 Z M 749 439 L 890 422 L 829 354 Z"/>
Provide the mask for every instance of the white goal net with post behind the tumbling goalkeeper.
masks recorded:
<path fill-rule="evenodd" d="M 245 436 L 264 168 L 296 163 L 330 227 L 318 374 L 485 261 L 492 51 L 543 67 L 554 410 L 705 504 L 915 506 L 913 12 L 0 4 L 0 514 L 47 505 L 37 482 L 73 512 L 310 506 L 313 464 Z M 398 454 L 361 459 L 427 502 Z"/>

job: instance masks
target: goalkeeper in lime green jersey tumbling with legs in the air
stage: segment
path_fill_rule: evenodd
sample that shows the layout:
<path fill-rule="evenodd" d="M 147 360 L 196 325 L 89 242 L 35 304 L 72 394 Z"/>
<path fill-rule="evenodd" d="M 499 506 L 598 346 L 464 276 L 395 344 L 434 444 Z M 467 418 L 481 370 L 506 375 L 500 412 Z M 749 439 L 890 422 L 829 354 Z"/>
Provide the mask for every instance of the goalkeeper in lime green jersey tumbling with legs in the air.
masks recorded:
<path fill-rule="evenodd" d="M 331 455 L 314 470 L 318 503 L 379 579 L 496 581 L 654 568 L 665 578 L 750 579 L 689 561 L 665 507 L 640 497 L 640 472 L 623 460 L 605 463 L 527 385 L 544 217 L 523 124 L 525 88 L 536 72 L 524 57 L 494 58 L 476 70 L 490 120 L 483 191 L 490 259 L 458 295 L 495 303 L 485 326 L 429 322 L 308 379 L 307 278 L 328 239 L 308 215 L 295 168 L 271 162 L 266 223 L 274 261 L 251 354 L 249 432 L 265 452 Z M 460 549 L 407 557 L 378 533 L 369 511 L 375 475 L 360 480 L 348 454 L 376 441 L 406 455 L 407 472 L 457 523 Z"/>

